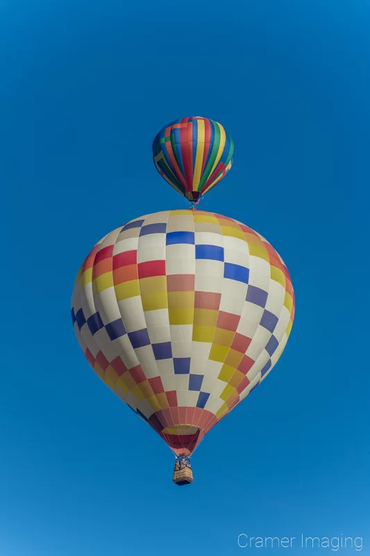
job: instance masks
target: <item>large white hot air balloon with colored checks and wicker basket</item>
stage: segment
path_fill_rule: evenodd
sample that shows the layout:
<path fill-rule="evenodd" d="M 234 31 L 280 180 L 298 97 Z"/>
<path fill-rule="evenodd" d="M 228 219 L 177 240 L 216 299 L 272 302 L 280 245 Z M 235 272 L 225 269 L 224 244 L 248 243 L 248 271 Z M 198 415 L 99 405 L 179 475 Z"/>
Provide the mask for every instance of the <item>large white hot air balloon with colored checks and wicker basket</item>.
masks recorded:
<path fill-rule="evenodd" d="M 260 234 L 205 211 L 135 218 L 97 243 L 72 296 L 74 331 L 103 382 L 169 445 L 192 482 L 204 435 L 283 352 L 294 293 Z"/>

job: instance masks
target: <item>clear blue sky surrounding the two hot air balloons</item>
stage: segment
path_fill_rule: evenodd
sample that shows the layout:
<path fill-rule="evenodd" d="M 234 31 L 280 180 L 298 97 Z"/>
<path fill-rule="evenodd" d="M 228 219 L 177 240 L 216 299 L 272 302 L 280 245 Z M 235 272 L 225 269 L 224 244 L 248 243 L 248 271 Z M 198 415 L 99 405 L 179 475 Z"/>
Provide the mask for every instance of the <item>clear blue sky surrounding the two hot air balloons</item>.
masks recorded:
<path fill-rule="evenodd" d="M 362 536 L 370 554 L 369 17 L 361 0 L 1 2 L 1 555 L 260 553 L 241 533 Z M 296 320 L 179 489 L 69 303 L 99 238 L 186 206 L 151 141 L 187 115 L 233 136 L 202 208 L 276 247 Z"/>

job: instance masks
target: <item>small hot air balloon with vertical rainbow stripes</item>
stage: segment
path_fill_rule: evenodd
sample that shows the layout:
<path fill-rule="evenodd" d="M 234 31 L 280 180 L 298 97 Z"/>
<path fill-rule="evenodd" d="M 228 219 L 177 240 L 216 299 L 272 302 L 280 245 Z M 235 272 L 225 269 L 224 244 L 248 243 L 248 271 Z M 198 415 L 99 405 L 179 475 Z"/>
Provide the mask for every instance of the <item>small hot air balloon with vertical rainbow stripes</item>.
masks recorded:
<path fill-rule="evenodd" d="M 205 117 L 183 117 L 171 122 L 153 141 L 158 172 L 194 203 L 230 170 L 233 152 L 233 140 L 224 127 Z"/>

